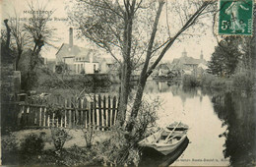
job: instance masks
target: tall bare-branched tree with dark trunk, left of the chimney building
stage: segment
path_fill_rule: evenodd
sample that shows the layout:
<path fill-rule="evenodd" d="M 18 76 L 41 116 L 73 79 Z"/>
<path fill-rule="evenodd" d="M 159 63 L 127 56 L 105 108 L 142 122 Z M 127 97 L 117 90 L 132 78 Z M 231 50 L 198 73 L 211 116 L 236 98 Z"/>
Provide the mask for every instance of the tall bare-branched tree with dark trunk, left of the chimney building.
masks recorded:
<path fill-rule="evenodd" d="M 25 81 L 25 89 L 29 89 L 32 84 L 35 83 L 36 72 L 35 67 L 42 63 L 40 58 L 40 51 L 44 44 L 49 44 L 52 38 L 52 33 L 55 28 L 48 26 L 48 21 L 53 14 L 52 12 L 46 11 L 46 5 L 36 4 L 36 6 L 31 2 L 28 4 L 31 10 L 28 23 L 24 23 L 24 28 L 28 32 L 29 37 L 32 39 L 32 54 L 30 56 L 29 69 Z"/>

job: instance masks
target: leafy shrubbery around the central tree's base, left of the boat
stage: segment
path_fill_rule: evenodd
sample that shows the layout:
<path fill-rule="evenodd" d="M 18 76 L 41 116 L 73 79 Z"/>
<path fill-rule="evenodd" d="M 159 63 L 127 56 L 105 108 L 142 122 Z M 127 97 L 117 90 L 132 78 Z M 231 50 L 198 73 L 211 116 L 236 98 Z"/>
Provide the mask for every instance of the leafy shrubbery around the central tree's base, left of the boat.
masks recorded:
<path fill-rule="evenodd" d="M 149 135 L 149 129 L 156 126 L 160 98 L 144 99 L 133 132 L 115 127 L 110 139 L 97 145 L 97 158 L 104 165 L 138 165 L 140 149 L 138 141 Z"/>

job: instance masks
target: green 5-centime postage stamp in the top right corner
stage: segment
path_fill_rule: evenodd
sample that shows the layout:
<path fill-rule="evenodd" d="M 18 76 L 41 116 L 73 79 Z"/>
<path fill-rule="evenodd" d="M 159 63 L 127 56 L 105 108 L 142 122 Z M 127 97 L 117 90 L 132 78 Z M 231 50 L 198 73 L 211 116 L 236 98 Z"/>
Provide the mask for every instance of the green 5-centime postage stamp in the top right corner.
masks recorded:
<path fill-rule="evenodd" d="M 253 0 L 220 0 L 219 34 L 251 35 Z"/>

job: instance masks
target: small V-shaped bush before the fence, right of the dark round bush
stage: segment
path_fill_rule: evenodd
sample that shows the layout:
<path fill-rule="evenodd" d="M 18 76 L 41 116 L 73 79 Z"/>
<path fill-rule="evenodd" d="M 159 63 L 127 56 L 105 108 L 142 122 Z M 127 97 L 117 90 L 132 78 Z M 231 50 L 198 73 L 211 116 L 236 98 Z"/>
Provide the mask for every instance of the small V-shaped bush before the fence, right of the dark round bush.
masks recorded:
<path fill-rule="evenodd" d="M 51 127 L 51 138 L 57 152 L 63 149 L 64 143 L 69 138 L 68 132 L 63 128 Z"/>

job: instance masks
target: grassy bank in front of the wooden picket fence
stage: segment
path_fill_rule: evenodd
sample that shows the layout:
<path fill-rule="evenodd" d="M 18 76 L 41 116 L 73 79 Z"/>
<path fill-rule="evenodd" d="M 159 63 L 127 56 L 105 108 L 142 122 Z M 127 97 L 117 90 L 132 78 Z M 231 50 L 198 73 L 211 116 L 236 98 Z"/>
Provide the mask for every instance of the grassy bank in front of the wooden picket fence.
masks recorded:
<path fill-rule="evenodd" d="M 26 153 L 21 149 L 21 143 L 30 134 L 45 134 L 43 138 L 45 146 L 41 152 Z M 111 132 L 99 132 L 94 134 L 92 147 L 86 146 L 86 140 L 81 130 L 69 130 L 70 138 L 65 142 L 64 148 L 56 151 L 49 129 L 23 130 L 2 136 L 2 164 L 25 166 L 77 166 L 100 165 L 98 158 L 98 145 L 105 139 L 111 138 Z M 16 144 L 14 143 L 16 141 Z M 9 146 L 8 146 L 9 144 Z M 11 146 L 10 146 L 11 145 Z M 7 148 L 8 147 L 8 148 Z M 17 147 L 13 149 L 14 147 Z"/>

